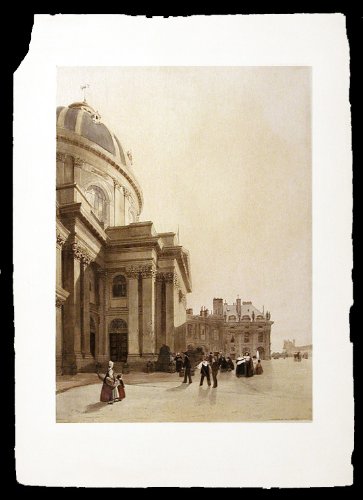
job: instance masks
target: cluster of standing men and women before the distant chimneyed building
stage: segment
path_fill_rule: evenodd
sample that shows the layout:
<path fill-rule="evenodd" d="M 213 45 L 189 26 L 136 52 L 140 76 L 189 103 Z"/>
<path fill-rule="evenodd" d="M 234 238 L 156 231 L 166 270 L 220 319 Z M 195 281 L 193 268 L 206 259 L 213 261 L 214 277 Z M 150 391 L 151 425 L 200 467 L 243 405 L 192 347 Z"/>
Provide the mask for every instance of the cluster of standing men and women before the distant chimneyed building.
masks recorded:
<path fill-rule="evenodd" d="M 187 352 L 180 353 L 175 356 L 176 371 L 179 374 L 184 373 L 183 383 L 192 383 L 192 363 Z M 200 383 L 202 386 L 204 379 L 207 380 L 208 386 L 211 385 L 211 375 L 213 380 L 213 388 L 218 386 L 217 375 L 221 372 L 233 371 L 234 363 L 230 357 L 225 357 L 223 354 L 209 353 L 204 356 L 202 361 L 195 367 L 200 370 Z M 251 357 L 248 352 L 244 356 L 239 356 L 236 360 L 236 376 L 237 377 L 252 377 L 253 375 L 261 375 L 263 373 L 261 361 L 256 356 Z"/>

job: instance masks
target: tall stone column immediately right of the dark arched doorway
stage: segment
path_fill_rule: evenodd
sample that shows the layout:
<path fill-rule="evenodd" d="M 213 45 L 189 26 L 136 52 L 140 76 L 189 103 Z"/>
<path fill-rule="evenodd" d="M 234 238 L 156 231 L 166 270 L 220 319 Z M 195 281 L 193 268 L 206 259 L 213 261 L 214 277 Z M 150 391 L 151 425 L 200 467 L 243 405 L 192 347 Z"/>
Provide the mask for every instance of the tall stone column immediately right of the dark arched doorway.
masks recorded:
<path fill-rule="evenodd" d="M 128 337 L 129 337 L 129 358 L 139 358 L 139 299 L 138 299 L 138 278 L 139 272 L 134 267 L 126 269 L 128 277 Z"/>

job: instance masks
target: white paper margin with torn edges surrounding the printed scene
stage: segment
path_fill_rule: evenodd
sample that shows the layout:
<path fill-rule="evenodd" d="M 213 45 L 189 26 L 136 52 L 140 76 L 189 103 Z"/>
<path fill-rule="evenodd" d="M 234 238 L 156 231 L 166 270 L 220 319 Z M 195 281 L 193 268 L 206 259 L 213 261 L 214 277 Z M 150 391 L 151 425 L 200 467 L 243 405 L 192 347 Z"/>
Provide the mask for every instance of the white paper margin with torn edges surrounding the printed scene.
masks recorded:
<path fill-rule="evenodd" d="M 312 66 L 313 423 L 55 423 L 55 280 L 49 279 L 55 276 L 54 108 L 56 67 L 71 65 Z M 51 486 L 350 484 L 352 179 L 344 17 L 39 15 L 14 82 L 18 481 Z M 248 459 L 241 460 L 241 447 L 249 450 Z"/>

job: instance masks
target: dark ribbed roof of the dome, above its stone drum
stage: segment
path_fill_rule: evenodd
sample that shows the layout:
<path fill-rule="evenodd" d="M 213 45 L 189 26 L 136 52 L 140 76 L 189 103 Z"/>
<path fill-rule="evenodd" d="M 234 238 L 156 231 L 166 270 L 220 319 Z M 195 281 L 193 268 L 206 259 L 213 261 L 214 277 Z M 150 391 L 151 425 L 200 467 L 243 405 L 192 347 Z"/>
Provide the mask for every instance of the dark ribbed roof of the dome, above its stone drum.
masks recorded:
<path fill-rule="evenodd" d="M 92 141 L 110 153 L 122 165 L 129 164 L 129 162 L 126 163 L 124 150 L 116 135 L 101 122 L 100 114 L 87 102 L 59 106 L 57 108 L 57 127 Z"/>

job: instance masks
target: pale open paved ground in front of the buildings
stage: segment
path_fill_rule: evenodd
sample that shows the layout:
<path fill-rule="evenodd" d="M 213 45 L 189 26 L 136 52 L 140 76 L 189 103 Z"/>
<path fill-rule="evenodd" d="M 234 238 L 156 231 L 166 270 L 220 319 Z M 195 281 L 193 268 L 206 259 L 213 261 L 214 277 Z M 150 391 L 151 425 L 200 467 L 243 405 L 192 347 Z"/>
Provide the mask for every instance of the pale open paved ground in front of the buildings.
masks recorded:
<path fill-rule="evenodd" d="M 264 373 L 236 378 L 219 373 L 218 387 L 199 387 L 173 374 L 124 375 L 126 398 L 99 402 L 102 383 L 57 394 L 58 422 L 268 422 L 311 420 L 312 361 L 263 361 Z M 94 375 L 93 375 L 94 376 Z"/>

